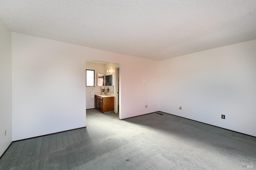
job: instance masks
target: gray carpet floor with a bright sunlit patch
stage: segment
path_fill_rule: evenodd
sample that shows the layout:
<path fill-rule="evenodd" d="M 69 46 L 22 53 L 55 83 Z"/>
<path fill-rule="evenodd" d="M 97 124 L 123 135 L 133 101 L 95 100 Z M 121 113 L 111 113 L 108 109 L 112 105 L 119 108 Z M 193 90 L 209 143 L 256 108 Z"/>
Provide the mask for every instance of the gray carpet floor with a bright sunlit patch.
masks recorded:
<path fill-rule="evenodd" d="M 162 112 L 125 120 L 86 113 L 86 128 L 12 143 L 0 170 L 256 168 L 256 137 Z"/>

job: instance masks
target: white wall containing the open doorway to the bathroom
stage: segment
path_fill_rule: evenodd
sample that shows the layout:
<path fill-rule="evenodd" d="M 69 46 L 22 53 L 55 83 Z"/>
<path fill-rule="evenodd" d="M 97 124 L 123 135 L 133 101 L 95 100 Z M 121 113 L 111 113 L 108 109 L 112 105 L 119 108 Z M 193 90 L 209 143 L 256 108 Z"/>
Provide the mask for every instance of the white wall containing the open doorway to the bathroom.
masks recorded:
<path fill-rule="evenodd" d="M 120 119 L 159 110 L 159 61 L 13 32 L 13 141 L 86 126 L 86 60 L 120 63 Z"/>

